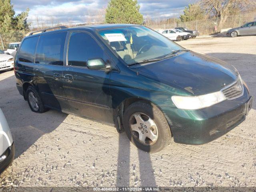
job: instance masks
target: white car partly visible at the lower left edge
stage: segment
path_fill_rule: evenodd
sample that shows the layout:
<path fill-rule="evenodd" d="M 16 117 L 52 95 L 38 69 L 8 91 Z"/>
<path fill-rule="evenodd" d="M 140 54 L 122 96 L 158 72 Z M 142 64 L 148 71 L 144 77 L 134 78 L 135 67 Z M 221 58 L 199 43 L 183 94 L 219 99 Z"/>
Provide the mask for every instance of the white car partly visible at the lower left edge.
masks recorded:
<path fill-rule="evenodd" d="M 0 108 L 0 174 L 12 164 L 15 147 L 10 128 Z"/>

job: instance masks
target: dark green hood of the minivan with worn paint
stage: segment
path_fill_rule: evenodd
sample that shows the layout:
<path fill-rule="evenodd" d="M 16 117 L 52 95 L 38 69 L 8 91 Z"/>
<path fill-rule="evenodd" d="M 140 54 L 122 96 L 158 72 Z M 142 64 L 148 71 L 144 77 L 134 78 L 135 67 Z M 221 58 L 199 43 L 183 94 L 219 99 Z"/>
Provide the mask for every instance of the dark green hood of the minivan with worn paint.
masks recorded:
<path fill-rule="evenodd" d="M 178 87 L 193 95 L 219 91 L 238 77 L 232 65 L 192 51 L 136 66 L 134 70 L 156 82 Z"/>

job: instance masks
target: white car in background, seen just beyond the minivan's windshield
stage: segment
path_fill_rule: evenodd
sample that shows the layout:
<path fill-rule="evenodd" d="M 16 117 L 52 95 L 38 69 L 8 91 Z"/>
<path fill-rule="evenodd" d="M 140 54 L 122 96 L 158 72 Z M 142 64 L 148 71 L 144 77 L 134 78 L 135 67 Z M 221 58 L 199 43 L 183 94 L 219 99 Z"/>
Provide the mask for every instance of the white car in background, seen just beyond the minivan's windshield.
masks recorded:
<path fill-rule="evenodd" d="M 186 40 L 191 38 L 190 33 L 183 32 L 178 29 L 167 29 L 167 30 L 164 30 L 162 34 L 168 37 L 170 40 L 176 40 L 176 41 L 181 41 L 181 40 Z"/>

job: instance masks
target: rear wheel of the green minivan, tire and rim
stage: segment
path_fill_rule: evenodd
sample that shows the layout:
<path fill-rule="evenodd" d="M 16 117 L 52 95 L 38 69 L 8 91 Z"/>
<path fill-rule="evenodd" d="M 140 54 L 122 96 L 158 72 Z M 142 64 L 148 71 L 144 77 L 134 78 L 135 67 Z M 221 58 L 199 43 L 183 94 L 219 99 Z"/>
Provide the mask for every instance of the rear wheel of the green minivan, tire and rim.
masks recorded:
<path fill-rule="evenodd" d="M 46 112 L 46 108 L 42 102 L 41 97 L 33 86 L 29 86 L 26 90 L 26 97 L 30 109 L 35 113 Z"/>

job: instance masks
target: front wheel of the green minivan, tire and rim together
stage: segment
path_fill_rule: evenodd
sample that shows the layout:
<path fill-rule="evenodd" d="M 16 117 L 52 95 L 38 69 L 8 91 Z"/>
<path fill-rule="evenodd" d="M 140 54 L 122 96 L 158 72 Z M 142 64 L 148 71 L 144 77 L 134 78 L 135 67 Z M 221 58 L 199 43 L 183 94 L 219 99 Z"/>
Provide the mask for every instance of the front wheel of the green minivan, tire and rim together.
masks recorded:
<path fill-rule="evenodd" d="M 146 152 L 158 152 L 171 139 L 168 122 L 156 106 L 138 101 L 125 110 L 123 125 L 129 140 Z"/>

